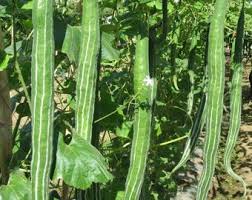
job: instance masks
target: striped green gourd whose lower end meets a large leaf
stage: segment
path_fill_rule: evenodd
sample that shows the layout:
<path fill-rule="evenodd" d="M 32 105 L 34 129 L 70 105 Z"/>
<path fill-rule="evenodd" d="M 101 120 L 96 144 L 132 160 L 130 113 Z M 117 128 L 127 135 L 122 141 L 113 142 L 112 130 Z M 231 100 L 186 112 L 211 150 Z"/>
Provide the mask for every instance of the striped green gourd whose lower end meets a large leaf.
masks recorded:
<path fill-rule="evenodd" d="M 81 45 L 76 86 L 76 133 L 91 142 L 97 77 L 97 55 L 100 47 L 97 0 L 84 0 Z"/>

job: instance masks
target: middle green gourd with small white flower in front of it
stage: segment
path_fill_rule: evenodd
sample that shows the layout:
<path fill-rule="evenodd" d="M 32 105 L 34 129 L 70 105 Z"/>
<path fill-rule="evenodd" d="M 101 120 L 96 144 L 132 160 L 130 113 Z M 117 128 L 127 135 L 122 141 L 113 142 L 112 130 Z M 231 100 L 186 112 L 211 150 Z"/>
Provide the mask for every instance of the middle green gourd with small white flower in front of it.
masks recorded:
<path fill-rule="evenodd" d="M 130 168 L 126 180 L 125 200 L 139 199 L 150 145 L 155 83 L 149 76 L 148 51 L 148 37 L 146 35 L 139 35 L 137 37 L 136 58 L 133 68 L 134 92 L 138 106 L 135 110 L 134 135 L 131 147 Z"/>

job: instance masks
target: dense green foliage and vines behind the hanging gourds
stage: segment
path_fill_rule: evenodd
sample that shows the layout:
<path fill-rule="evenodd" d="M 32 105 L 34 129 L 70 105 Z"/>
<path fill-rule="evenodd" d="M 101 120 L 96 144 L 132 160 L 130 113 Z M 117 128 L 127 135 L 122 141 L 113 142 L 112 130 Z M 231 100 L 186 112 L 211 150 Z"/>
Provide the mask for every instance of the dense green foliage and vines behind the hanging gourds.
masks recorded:
<path fill-rule="evenodd" d="M 74 91 L 81 4 L 81 0 L 55 0 L 54 5 L 54 131 L 63 133 L 66 139 L 71 137 L 75 126 Z M 120 191 L 124 190 L 130 161 L 134 111 L 132 67 L 135 60 L 135 35 L 140 22 L 148 21 L 150 69 L 152 76 L 157 78 L 158 92 L 154 110 L 155 131 L 152 133 L 144 191 L 148 194 L 145 199 L 170 199 L 176 196 L 178 187 L 185 184 L 179 176 L 170 176 L 170 171 L 183 153 L 204 91 L 208 29 L 213 1 L 169 0 L 167 13 L 163 12 L 164 4 L 161 0 L 100 0 L 99 6 L 102 48 L 98 63 L 93 145 L 105 157 L 109 163 L 109 171 L 114 176 L 112 181 L 100 186 L 100 192 L 104 199 L 110 200 L 116 196 L 119 198 Z M 240 1 L 231 0 L 225 24 L 226 47 L 231 48 L 240 8 Z M 246 2 L 245 13 L 245 44 L 251 46 L 252 3 L 249 1 Z M 5 33 L 6 53 L 0 67 L 8 70 L 11 102 L 15 113 L 14 157 L 11 167 L 13 171 L 19 169 L 24 172 L 26 178 L 29 178 L 31 114 L 23 89 L 26 87 L 30 95 L 32 1 L 1 0 L 0 21 Z M 244 48 L 244 53 L 249 57 L 250 47 Z M 227 61 L 227 77 L 229 70 Z M 228 79 L 226 84 L 229 84 Z M 228 95 L 228 91 L 226 94 Z M 201 148 L 202 142 L 198 146 Z M 78 158 L 75 157 L 73 162 L 75 159 Z M 185 172 L 188 166 L 180 169 L 180 173 Z M 217 172 L 223 173 L 221 164 Z M 19 178 L 19 181 L 27 181 L 24 177 Z M 60 185 L 60 182 L 51 182 L 54 198 L 60 195 Z M 230 187 L 234 186 L 231 184 Z"/>

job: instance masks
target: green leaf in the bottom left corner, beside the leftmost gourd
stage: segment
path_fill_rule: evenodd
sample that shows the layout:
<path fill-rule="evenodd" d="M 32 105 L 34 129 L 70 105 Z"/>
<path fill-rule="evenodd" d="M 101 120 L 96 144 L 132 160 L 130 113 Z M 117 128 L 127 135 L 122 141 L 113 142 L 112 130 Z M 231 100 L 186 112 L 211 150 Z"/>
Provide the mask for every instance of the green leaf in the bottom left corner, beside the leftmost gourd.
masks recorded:
<path fill-rule="evenodd" d="M 1 186 L 0 200 L 29 200 L 31 183 L 20 171 L 11 173 L 9 184 Z"/>

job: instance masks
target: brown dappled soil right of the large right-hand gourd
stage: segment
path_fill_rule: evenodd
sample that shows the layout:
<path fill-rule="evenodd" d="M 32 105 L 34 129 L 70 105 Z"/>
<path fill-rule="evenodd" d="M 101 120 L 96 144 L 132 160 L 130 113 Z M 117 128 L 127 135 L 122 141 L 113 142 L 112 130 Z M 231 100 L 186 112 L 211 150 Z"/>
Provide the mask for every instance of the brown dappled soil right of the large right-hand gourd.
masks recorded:
<path fill-rule="evenodd" d="M 244 66 L 242 83 L 243 106 L 241 127 L 232 161 L 234 171 L 241 175 L 247 183 L 246 200 L 252 200 L 252 94 L 248 78 L 251 70 L 251 62 L 247 62 Z M 228 123 L 225 124 L 228 125 Z M 226 128 L 228 127 L 225 126 L 223 129 L 226 130 Z M 221 145 L 223 144 L 224 142 L 222 141 Z M 212 192 L 212 197 L 210 199 L 242 199 L 241 195 L 243 189 L 241 184 L 229 177 L 222 169 L 221 165 L 219 167 L 220 169 L 217 169 L 212 190 L 215 190 L 215 192 Z"/>

